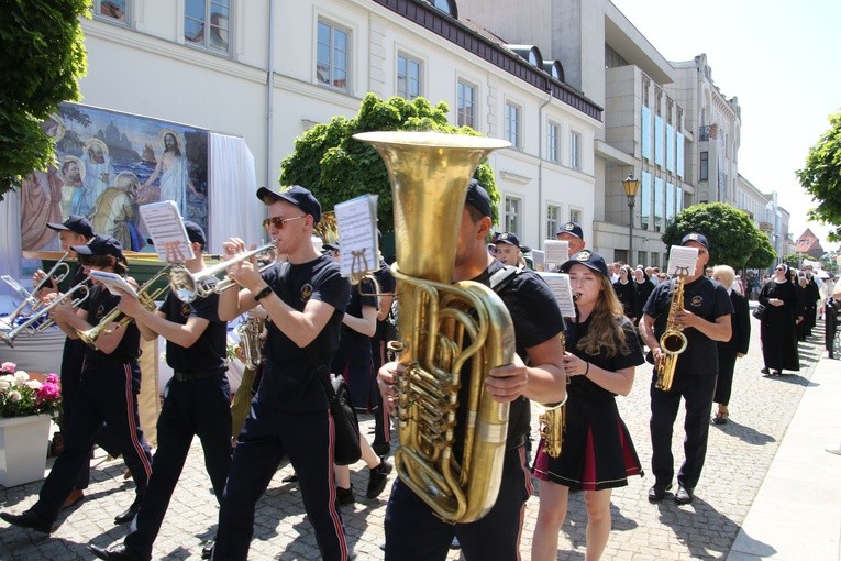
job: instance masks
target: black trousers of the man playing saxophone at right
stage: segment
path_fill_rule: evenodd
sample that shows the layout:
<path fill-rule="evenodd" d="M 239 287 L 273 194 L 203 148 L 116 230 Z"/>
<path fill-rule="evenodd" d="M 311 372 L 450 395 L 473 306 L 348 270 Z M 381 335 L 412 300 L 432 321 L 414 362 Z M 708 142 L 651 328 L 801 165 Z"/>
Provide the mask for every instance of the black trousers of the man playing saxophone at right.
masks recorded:
<path fill-rule="evenodd" d="M 685 375 L 675 373 L 672 389 L 663 392 L 654 387 L 657 380 L 656 369 L 651 381 L 651 471 L 655 484 L 671 484 L 675 468 L 672 455 L 672 433 L 674 430 L 680 398 L 686 400 L 684 420 L 684 463 L 677 473 L 677 482 L 687 488 L 695 488 L 700 480 L 704 461 L 707 457 L 707 437 L 709 436 L 709 415 L 712 409 L 712 394 L 716 391 L 716 374 Z"/>

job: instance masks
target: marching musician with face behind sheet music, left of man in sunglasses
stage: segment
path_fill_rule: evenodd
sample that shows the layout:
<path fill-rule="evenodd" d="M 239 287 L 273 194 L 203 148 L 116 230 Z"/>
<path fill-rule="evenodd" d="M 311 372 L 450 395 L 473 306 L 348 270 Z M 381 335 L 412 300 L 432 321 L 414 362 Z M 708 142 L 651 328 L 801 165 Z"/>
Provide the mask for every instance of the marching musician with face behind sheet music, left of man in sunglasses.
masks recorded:
<path fill-rule="evenodd" d="M 195 257 L 185 262 L 192 274 L 204 268 L 201 252 L 204 232 L 196 222 L 185 221 Z M 215 277 L 206 283 L 215 284 Z M 157 450 L 152 477 L 123 543 L 109 549 L 91 544 L 99 559 L 152 559 L 152 547 L 164 521 L 169 499 L 178 483 L 193 436 L 201 440 L 204 465 L 213 493 L 222 501 L 231 466 L 231 386 L 225 372 L 228 322 L 219 319 L 219 295 L 181 301 L 175 290 L 155 311 L 136 297 L 123 293 L 120 309 L 134 318 L 146 341 L 166 339 L 166 362 L 173 378 L 164 389 L 164 405 L 157 420 Z"/>

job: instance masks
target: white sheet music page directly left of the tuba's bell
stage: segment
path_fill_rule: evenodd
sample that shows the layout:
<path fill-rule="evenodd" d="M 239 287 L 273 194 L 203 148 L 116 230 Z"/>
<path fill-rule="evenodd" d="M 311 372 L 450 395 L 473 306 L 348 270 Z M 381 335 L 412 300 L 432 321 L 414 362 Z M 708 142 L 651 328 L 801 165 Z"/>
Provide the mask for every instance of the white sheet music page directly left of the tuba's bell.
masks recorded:
<path fill-rule="evenodd" d="M 379 268 L 377 199 L 376 195 L 363 195 L 335 206 L 342 276 L 358 277 Z"/>

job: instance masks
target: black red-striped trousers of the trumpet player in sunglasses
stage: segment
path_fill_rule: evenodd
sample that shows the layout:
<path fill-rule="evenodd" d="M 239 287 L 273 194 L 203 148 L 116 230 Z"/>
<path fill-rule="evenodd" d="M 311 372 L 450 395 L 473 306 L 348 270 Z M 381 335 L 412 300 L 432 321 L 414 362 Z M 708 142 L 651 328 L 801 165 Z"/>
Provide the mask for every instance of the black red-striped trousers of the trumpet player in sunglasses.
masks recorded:
<path fill-rule="evenodd" d="M 333 419 L 330 411 L 289 413 L 255 399 L 237 439 L 228 476 L 213 559 L 248 557 L 254 535 L 254 508 L 288 455 L 298 474 L 307 518 L 324 561 L 346 561 L 347 540 L 335 506 Z"/>

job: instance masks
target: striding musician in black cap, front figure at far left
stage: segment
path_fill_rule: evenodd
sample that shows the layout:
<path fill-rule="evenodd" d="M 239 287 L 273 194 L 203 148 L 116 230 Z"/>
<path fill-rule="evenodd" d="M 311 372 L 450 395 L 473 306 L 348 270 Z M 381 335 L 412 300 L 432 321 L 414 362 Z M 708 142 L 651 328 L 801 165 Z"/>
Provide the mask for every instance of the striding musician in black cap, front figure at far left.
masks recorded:
<path fill-rule="evenodd" d="M 85 272 L 108 271 L 124 275 L 128 271 L 120 242 L 110 237 L 96 237 L 87 245 L 73 245 Z M 77 330 L 97 324 L 118 304 L 120 297 L 93 280 L 90 296 L 79 310 L 69 302 L 55 307 L 51 318 L 77 339 Z M 140 508 L 141 498 L 152 472 L 152 454 L 137 416 L 137 393 L 141 372 L 140 331 L 134 322 L 124 329 L 103 331 L 97 339 L 98 350 L 85 348 L 85 365 L 75 394 L 75 413 L 67 424 L 64 451 L 56 459 L 49 476 L 44 481 L 38 501 L 20 515 L 2 513 L 0 517 L 14 526 L 49 534 L 62 506 L 73 491 L 79 471 L 90 461 L 90 448 L 104 421 L 117 441 L 123 459 L 137 485 L 131 507 L 114 518 L 114 524 L 130 521 Z"/>

